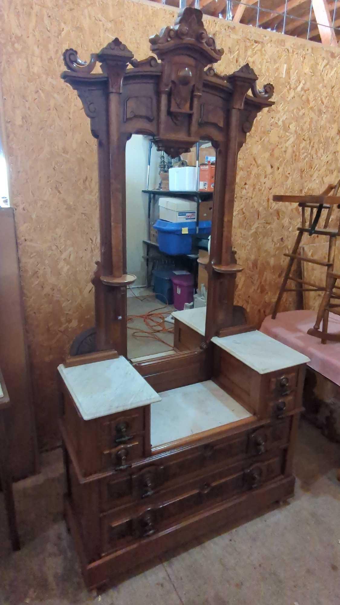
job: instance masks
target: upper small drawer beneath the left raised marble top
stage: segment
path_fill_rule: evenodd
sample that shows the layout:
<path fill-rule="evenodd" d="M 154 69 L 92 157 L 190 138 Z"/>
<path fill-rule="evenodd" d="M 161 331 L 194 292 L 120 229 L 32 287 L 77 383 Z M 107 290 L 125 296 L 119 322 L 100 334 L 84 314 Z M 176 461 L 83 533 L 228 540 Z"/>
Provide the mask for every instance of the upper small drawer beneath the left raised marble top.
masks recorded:
<path fill-rule="evenodd" d="M 102 449 L 125 445 L 143 433 L 145 419 L 144 407 L 131 410 L 130 413 L 115 414 L 114 418 L 102 423 Z"/>

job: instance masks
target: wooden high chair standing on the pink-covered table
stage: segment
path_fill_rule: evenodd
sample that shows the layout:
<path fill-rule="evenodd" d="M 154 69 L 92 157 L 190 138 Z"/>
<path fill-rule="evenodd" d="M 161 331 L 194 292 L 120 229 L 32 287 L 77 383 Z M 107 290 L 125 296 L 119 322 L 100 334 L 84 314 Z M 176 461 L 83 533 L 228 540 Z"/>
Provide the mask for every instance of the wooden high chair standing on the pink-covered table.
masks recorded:
<path fill-rule="evenodd" d="M 340 180 L 336 185 L 329 185 L 321 195 L 274 195 L 273 201 L 295 202 L 301 208 L 301 227 L 298 227 L 298 235 L 292 249 L 292 252 L 285 254 L 289 258 L 286 272 L 284 273 L 283 282 L 276 298 L 275 306 L 272 313 L 272 319 L 275 319 L 278 313 L 281 300 L 284 292 L 325 292 L 328 284 L 331 284 L 330 275 L 334 270 L 336 238 L 340 235 L 340 219 L 338 228 L 329 227 L 330 219 L 332 218 L 333 206 L 340 208 L 340 197 L 338 191 L 340 188 Z M 330 195 L 332 193 L 332 195 Z M 306 210 L 309 210 L 309 220 L 307 226 Z M 325 215 L 324 225 L 321 229 L 318 228 L 318 223 L 322 212 L 327 211 Z M 314 214 L 315 213 L 315 214 Z M 302 236 L 307 233 L 309 235 L 324 235 L 329 238 L 329 249 L 327 261 L 317 260 L 299 255 L 298 250 L 301 245 Z M 322 267 L 327 267 L 325 284 L 314 284 L 310 281 L 291 275 L 293 264 L 295 261 L 301 263 L 312 263 Z M 287 282 L 294 281 L 299 287 L 287 288 Z M 331 295 L 332 297 L 333 295 Z M 329 305 L 329 303 L 327 303 Z M 328 315 L 327 315 L 328 317 Z"/>

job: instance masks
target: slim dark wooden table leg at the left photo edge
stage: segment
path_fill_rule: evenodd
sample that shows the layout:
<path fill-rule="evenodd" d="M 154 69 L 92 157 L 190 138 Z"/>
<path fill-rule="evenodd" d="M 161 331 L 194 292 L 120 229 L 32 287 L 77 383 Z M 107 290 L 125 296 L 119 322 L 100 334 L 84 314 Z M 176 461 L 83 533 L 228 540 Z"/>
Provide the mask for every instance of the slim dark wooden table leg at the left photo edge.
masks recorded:
<path fill-rule="evenodd" d="M 13 489 L 11 484 L 11 474 L 8 464 L 8 444 L 7 432 L 5 430 L 5 411 L 0 413 L 0 480 L 2 491 L 4 492 L 5 509 L 8 518 L 8 528 L 10 531 L 10 541 L 13 551 L 20 548 L 18 529 L 16 527 L 15 504 L 13 498 Z"/>

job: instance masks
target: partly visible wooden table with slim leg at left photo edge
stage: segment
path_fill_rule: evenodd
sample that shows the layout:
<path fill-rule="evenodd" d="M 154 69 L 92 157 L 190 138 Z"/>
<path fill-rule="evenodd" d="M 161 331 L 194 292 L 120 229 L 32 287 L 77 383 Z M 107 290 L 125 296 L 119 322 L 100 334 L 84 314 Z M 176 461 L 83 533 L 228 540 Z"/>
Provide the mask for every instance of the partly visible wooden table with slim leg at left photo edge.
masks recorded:
<path fill-rule="evenodd" d="M 12 473 L 10 468 L 10 450 L 8 446 L 8 414 L 10 409 L 10 398 L 8 397 L 4 377 L 0 370 L 0 481 L 4 493 L 5 508 L 10 531 L 10 541 L 13 551 L 20 548 L 18 529 L 16 527 L 15 504 L 12 489 Z"/>

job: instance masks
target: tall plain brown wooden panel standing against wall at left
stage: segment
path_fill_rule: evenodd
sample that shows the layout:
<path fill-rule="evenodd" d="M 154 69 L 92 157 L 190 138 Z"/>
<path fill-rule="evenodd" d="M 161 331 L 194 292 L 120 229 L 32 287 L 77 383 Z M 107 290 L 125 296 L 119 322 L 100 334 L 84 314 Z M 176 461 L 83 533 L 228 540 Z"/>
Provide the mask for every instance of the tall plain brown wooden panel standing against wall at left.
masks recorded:
<path fill-rule="evenodd" d="M 0 308 L 0 367 L 13 404 L 10 460 L 19 480 L 38 472 L 39 458 L 13 208 L 0 208 Z"/>

